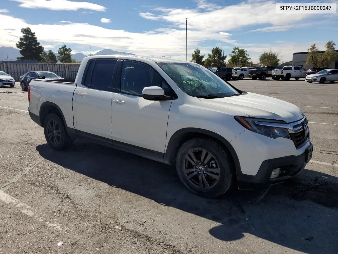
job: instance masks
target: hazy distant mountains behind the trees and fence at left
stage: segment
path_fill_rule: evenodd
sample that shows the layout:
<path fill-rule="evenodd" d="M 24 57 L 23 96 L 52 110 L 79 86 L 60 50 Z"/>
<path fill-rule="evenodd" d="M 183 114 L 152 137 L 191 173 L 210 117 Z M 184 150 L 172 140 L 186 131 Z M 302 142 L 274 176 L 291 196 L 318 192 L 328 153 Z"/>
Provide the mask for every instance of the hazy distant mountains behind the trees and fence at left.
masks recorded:
<path fill-rule="evenodd" d="M 45 50 L 46 53 L 48 53 L 48 50 Z M 8 60 L 17 60 L 17 57 L 21 57 L 20 50 L 13 47 L 0 47 L 0 62 L 7 60 L 7 53 L 8 53 Z M 54 52 L 55 56 L 58 56 L 59 54 L 57 52 Z M 112 49 L 103 49 L 101 51 L 98 51 L 94 54 L 94 56 L 97 55 L 135 55 L 129 52 L 119 52 Z M 76 54 L 72 54 L 72 58 L 74 58 L 77 62 L 82 61 L 83 58 L 87 57 L 87 55 L 84 55 L 81 52 L 78 52 Z"/>

